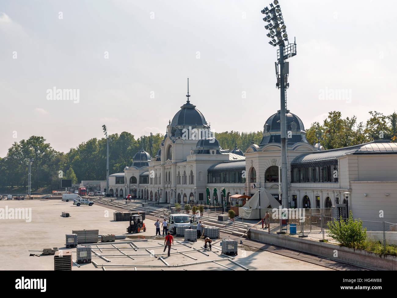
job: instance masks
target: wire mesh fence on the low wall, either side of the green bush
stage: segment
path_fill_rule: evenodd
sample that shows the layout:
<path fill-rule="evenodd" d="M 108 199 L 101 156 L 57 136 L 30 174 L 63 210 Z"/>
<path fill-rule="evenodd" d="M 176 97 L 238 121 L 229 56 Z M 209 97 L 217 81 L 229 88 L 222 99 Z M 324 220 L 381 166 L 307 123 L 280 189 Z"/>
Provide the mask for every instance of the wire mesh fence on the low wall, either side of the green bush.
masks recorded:
<path fill-rule="evenodd" d="M 269 232 L 297 235 L 337 242 L 330 236 L 331 221 L 347 221 L 332 217 L 332 208 L 269 210 Z M 360 220 L 360 219 L 358 219 Z M 386 221 L 365 221 L 362 231 L 366 240 L 363 249 L 378 253 L 397 254 L 397 224 Z"/>

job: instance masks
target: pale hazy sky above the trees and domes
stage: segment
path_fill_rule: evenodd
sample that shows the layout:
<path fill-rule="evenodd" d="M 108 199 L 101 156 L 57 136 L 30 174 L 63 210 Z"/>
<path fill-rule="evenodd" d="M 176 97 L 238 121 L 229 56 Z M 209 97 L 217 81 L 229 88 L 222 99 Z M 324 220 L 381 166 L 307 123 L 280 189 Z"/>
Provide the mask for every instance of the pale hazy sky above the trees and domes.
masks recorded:
<path fill-rule="evenodd" d="M 396 110 L 397 2 L 279 2 L 298 52 L 287 106 L 306 128 L 333 110 L 358 121 Z M 260 13 L 269 3 L 2 0 L 0 156 L 31 135 L 67 152 L 103 137 L 103 124 L 165 133 L 187 77 L 212 131 L 261 131 L 280 109 L 276 48 Z M 79 102 L 47 100 L 54 87 L 78 90 Z M 334 92 L 346 97 L 321 100 Z"/>

